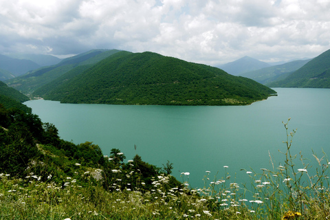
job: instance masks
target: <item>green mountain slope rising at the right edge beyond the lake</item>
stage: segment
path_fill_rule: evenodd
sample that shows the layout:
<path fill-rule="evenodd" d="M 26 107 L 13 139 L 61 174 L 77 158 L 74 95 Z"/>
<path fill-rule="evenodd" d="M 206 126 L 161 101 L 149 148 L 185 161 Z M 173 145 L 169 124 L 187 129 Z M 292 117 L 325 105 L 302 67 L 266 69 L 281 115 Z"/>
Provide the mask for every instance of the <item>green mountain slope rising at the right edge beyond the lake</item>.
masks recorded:
<path fill-rule="evenodd" d="M 330 88 L 330 50 L 323 52 L 272 87 Z"/>

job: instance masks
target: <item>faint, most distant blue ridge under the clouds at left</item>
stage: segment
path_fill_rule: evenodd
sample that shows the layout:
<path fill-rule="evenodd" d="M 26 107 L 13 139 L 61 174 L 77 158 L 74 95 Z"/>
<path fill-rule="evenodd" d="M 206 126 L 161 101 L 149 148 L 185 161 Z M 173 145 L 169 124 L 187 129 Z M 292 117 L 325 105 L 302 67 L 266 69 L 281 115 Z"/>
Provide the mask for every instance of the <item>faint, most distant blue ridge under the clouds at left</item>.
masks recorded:
<path fill-rule="evenodd" d="M 57 58 L 56 56 L 44 54 L 8 54 L 7 56 L 20 60 L 32 61 L 41 67 L 56 65 L 62 61 L 62 59 Z"/>

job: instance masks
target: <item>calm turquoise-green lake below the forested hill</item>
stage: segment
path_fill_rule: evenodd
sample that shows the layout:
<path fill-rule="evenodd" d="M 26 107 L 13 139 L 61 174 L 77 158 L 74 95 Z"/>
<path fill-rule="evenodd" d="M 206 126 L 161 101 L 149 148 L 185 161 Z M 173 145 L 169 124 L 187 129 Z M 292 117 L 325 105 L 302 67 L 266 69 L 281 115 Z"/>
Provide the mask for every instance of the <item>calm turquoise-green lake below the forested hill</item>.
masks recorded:
<path fill-rule="evenodd" d="M 173 175 L 189 172 L 190 186 L 203 187 L 203 176 L 245 181 L 245 170 L 284 165 L 285 128 L 298 129 L 292 152 L 315 162 L 311 149 L 329 154 L 330 89 L 274 88 L 278 96 L 248 106 L 125 106 L 25 102 L 43 122 L 58 128 L 61 138 L 76 144 L 94 142 L 109 155 L 119 148 L 126 160 L 135 154 L 149 164 L 173 163 Z M 134 146 L 137 146 L 136 150 Z M 299 164 L 299 161 L 296 161 Z M 298 167 L 300 168 L 300 167 Z M 219 174 L 217 172 L 219 171 Z"/>

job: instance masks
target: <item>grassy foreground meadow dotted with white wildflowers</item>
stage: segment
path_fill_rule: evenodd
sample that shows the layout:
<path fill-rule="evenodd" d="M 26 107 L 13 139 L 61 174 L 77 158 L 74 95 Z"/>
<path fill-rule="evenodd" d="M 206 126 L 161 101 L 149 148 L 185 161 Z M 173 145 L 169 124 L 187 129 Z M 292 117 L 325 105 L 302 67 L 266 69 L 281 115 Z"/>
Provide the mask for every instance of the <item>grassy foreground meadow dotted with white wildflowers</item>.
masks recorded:
<path fill-rule="evenodd" d="M 245 170 L 250 185 L 230 181 L 227 172 L 211 177 L 206 171 L 203 188 L 190 188 L 190 173 L 181 173 L 181 189 L 168 188 L 168 175 L 159 175 L 151 190 L 116 179 L 109 191 L 102 179 L 88 184 L 92 176 L 83 169 L 64 184 L 52 176 L 41 181 L 33 173 L 25 179 L 1 174 L 0 219 L 329 219 L 330 163 L 314 155 L 318 166 L 311 170 L 303 155 L 292 155 L 296 130 L 283 124 L 283 166 Z"/>

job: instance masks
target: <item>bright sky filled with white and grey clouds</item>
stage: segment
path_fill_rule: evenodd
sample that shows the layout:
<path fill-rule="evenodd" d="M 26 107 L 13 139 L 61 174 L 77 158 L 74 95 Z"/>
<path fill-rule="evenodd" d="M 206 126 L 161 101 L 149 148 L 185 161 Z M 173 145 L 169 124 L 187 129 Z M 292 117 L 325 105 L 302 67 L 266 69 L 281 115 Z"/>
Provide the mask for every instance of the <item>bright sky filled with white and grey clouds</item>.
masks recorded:
<path fill-rule="evenodd" d="M 218 65 L 330 49 L 330 0 L 0 0 L 0 54 L 151 51 Z"/>

